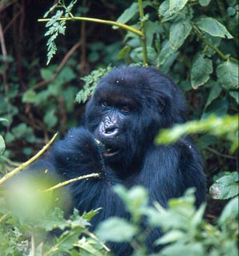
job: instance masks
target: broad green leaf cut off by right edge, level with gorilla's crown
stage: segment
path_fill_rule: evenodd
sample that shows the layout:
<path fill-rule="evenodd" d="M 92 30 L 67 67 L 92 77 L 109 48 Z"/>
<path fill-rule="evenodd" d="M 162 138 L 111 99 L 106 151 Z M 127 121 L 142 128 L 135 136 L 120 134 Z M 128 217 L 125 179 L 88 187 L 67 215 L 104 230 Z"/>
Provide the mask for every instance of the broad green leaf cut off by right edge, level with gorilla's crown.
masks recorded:
<path fill-rule="evenodd" d="M 217 67 L 217 77 L 226 90 L 238 88 L 238 64 L 226 61 Z"/>

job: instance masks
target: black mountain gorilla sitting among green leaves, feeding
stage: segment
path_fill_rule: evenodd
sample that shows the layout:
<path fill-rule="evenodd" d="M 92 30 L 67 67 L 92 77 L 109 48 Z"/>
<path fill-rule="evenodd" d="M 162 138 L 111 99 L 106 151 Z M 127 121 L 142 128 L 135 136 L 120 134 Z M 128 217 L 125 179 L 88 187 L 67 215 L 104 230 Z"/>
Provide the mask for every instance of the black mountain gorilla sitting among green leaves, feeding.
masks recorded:
<path fill-rule="evenodd" d="M 93 227 L 107 217 L 129 218 L 112 190 L 117 184 L 127 188 L 143 185 L 150 204 L 159 201 L 164 207 L 168 199 L 195 187 L 198 206 L 205 201 L 205 175 L 195 144 L 189 137 L 175 144 L 154 144 L 161 128 L 184 123 L 185 111 L 179 88 L 156 69 L 115 68 L 100 79 L 87 103 L 82 126 L 55 142 L 32 168 L 39 173 L 48 169 L 63 180 L 99 173 L 99 177 L 73 182 L 66 188 L 80 213 L 102 208 L 91 222 Z M 151 252 L 160 231 L 153 233 L 148 238 Z M 116 255 L 132 253 L 129 244 L 109 246 Z"/>

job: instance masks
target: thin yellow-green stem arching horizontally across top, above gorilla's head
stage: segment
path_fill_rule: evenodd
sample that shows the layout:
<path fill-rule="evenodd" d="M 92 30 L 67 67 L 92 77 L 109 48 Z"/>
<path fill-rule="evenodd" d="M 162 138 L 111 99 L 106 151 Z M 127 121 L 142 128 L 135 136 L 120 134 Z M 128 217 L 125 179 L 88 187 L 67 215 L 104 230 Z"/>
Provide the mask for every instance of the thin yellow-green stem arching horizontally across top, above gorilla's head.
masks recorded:
<path fill-rule="evenodd" d="M 51 20 L 51 18 L 39 18 L 38 22 L 49 22 Z M 124 30 L 128 30 L 131 31 L 132 33 L 136 34 L 136 35 L 140 35 L 141 37 L 144 37 L 144 34 L 140 31 L 140 30 L 136 30 L 135 28 L 133 28 L 132 26 L 128 26 L 125 25 L 123 23 L 120 22 L 113 22 L 110 20 L 104 20 L 104 19 L 99 19 L 99 18 L 86 18 L 86 17 L 63 17 L 63 18 L 59 18 L 60 20 L 79 20 L 79 21 L 85 21 L 85 22 L 97 22 L 97 23 L 103 23 L 103 24 L 107 24 L 107 25 L 111 25 L 111 26 L 119 26 L 121 28 L 123 28 Z"/>

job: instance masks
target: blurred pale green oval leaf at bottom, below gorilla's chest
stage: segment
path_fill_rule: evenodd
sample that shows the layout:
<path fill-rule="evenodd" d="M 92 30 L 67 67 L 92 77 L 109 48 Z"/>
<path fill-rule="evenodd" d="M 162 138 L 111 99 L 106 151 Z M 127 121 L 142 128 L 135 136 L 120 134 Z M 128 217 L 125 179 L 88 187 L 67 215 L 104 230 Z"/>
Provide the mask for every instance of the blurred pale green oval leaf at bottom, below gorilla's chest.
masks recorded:
<path fill-rule="evenodd" d="M 136 227 L 126 219 L 110 217 L 99 223 L 95 233 L 103 241 L 129 242 L 136 235 Z"/>

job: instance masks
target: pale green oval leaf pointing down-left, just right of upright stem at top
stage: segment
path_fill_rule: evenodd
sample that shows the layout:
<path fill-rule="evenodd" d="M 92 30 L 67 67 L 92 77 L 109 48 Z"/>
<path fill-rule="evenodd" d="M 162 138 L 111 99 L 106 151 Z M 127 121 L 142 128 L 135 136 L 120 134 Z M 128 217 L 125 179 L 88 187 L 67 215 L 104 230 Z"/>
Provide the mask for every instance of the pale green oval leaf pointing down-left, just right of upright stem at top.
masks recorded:
<path fill-rule="evenodd" d="M 192 25 L 188 20 L 172 23 L 172 26 L 170 27 L 169 42 L 175 51 L 184 43 L 191 30 Z"/>

